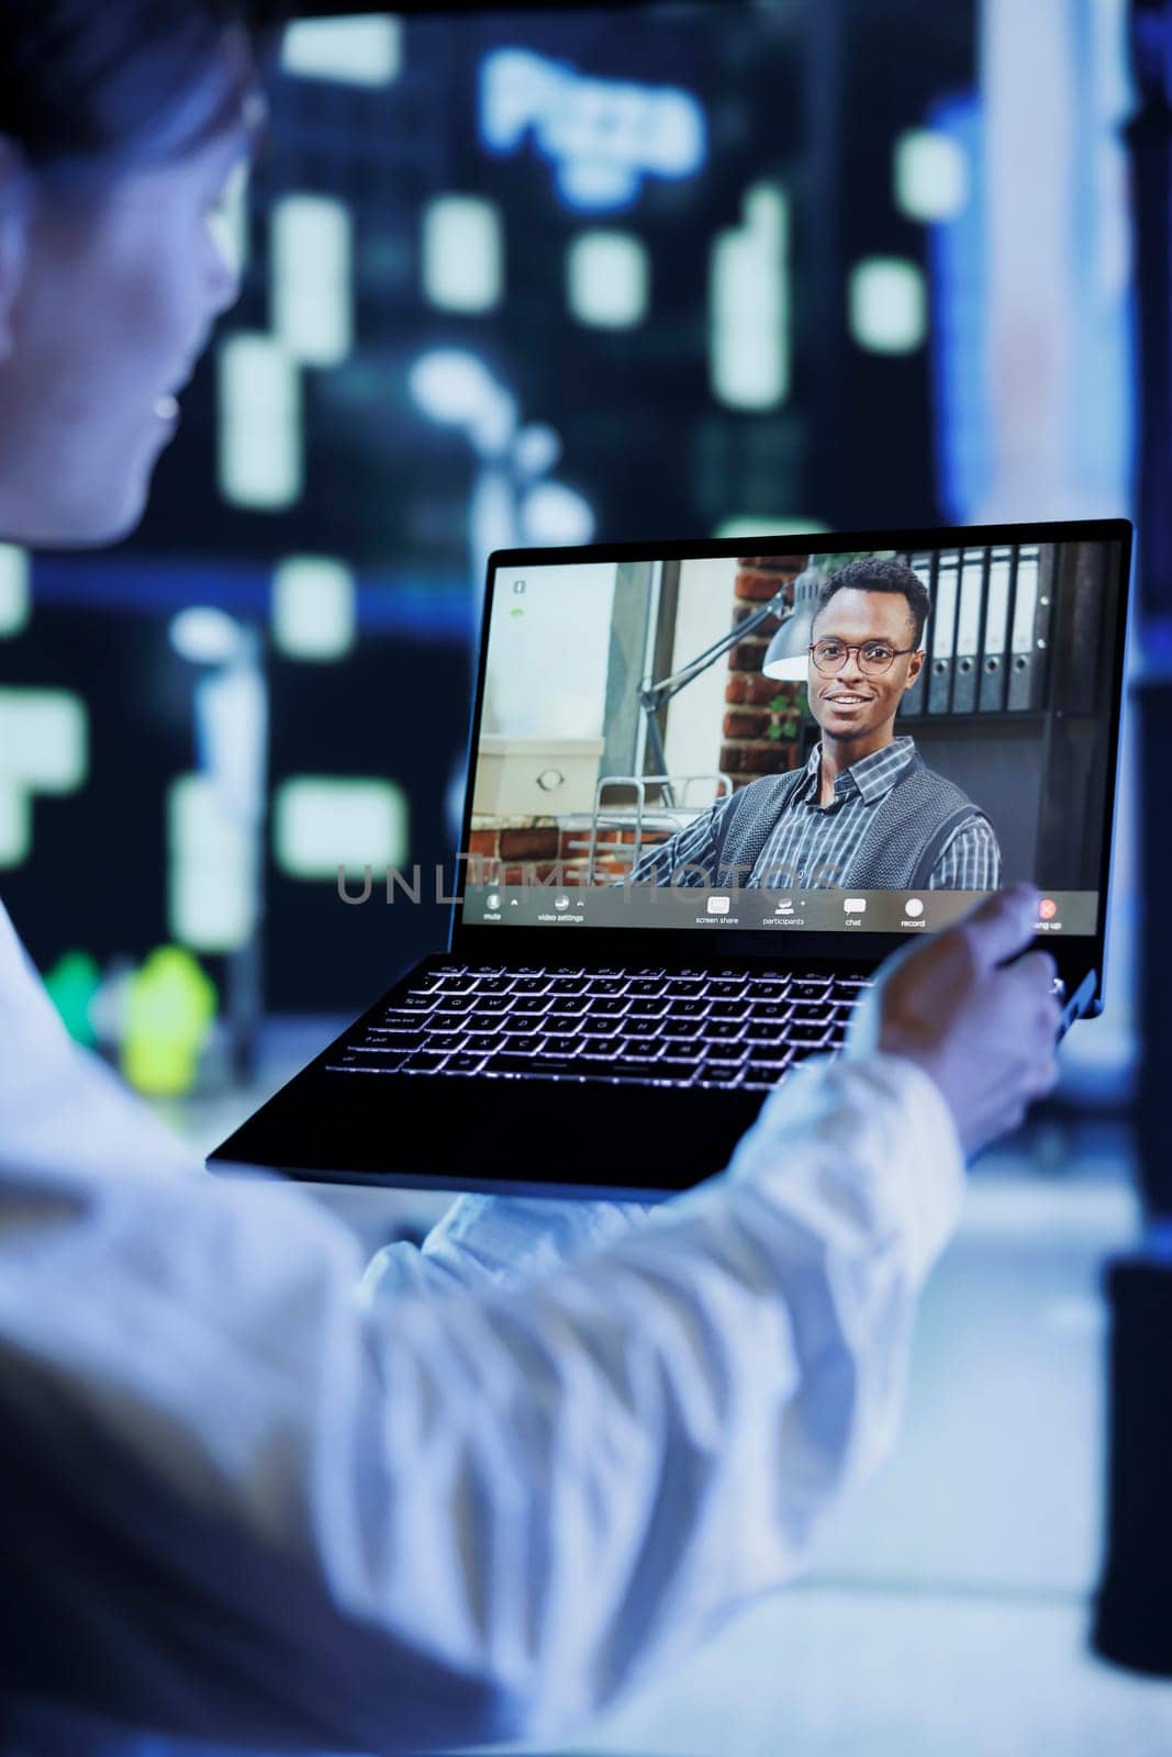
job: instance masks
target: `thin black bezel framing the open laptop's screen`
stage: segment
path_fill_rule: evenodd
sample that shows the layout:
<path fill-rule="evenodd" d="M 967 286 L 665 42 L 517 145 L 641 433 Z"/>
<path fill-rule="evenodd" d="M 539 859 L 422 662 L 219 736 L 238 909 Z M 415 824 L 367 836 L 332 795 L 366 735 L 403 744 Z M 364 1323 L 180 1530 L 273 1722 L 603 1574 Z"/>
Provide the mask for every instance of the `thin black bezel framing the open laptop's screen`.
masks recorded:
<path fill-rule="evenodd" d="M 1128 518 L 1037 520 L 989 525 L 928 525 L 889 527 L 884 531 L 810 531 L 743 538 L 705 538 L 696 541 L 661 543 L 590 543 L 568 548 L 510 548 L 494 550 L 487 562 L 483 613 L 478 638 L 476 689 L 467 733 L 466 798 L 460 824 L 460 850 L 471 849 L 474 763 L 478 731 L 483 713 L 485 680 L 488 668 L 488 634 L 492 627 L 492 601 L 497 573 L 515 568 L 575 566 L 583 562 L 640 562 L 640 560 L 736 560 L 742 555 L 826 555 L 835 550 L 924 550 L 924 548 L 988 548 L 1021 543 L 1119 543 L 1119 615 L 1114 652 L 1111 654 L 1111 740 L 1114 761 L 1107 766 L 1103 810 L 1103 843 L 1100 854 L 1098 912 L 1093 935 L 1040 940 L 1065 979 L 1067 987 L 1079 986 L 1088 970 L 1096 972 L 1096 993 L 1089 1012 L 1102 1010 L 1103 951 L 1107 931 L 1107 898 L 1114 850 L 1114 819 L 1119 778 L 1119 727 L 1123 712 L 1125 650 L 1130 615 L 1133 527 Z M 552 928 L 511 928 L 504 922 L 462 921 L 467 889 L 466 859 L 457 863 L 452 893 L 452 919 L 448 952 L 469 963 L 492 965 L 580 965 L 631 966 L 648 965 L 705 966 L 717 965 L 787 965 L 799 961 L 826 970 L 870 970 L 891 958 L 910 942 L 903 933 L 814 933 L 807 928 L 756 929 L 671 929 L 671 928 L 582 928 L 571 935 Z M 915 940 L 919 944 L 919 940 Z"/>

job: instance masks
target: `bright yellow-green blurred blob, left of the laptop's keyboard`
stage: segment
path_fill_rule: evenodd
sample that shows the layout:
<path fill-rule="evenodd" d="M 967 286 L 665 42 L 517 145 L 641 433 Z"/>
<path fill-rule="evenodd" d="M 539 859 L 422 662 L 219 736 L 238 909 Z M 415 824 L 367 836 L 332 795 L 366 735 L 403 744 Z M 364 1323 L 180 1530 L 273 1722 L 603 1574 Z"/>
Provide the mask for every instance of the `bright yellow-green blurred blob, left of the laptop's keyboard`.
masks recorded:
<path fill-rule="evenodd" d="M 177 1098 L 199 1079 L 218 1005 L 216 984 L 181 945 L 156 947 L 127 979 L 121 1072 L 151 1098 Z"/>

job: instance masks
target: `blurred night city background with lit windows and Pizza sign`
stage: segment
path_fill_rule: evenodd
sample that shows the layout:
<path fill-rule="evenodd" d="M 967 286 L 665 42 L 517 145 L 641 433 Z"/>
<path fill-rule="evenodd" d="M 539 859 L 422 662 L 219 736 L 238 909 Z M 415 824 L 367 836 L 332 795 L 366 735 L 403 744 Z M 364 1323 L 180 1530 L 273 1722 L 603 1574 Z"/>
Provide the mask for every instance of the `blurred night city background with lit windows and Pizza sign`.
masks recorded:
<path fill-rule="evenodd" d="M 295 25 L 146 522 L 0 550 L 0 894 L 70 1030 L 207 1151 L 445 944 L 434 886 L 355 910 L 339 864 L 450 871 L 496 546 L 1130 515 L 1133 109 L 1126 0 Z M 1130 752 L 1107 1014 L 973 1172 L 901 1453 L 582 1750 L 1172 1750 L 1088 1652 Z M 371 1246 L 446 1205 L 322 1198 Z"/>

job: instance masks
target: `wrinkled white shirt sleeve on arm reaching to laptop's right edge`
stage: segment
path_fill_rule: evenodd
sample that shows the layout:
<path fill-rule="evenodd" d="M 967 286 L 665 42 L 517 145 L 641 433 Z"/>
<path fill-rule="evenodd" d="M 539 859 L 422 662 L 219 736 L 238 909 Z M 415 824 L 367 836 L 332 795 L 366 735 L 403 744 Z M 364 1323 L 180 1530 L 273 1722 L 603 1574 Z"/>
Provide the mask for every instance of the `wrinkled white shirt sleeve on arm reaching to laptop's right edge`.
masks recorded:
<path fill-rule="evenodd" d="M 77 1093 L 88 1154 L 0 1081 L 9 1676 L 288 1748 L 561 1738 L 798 1573 L 891 1444 L 963 1186 L 924 1074 L 814 1063 L 569 1267 L 371 1298 L 307 1197 L 160 1170 L 112 1077 Z"/>

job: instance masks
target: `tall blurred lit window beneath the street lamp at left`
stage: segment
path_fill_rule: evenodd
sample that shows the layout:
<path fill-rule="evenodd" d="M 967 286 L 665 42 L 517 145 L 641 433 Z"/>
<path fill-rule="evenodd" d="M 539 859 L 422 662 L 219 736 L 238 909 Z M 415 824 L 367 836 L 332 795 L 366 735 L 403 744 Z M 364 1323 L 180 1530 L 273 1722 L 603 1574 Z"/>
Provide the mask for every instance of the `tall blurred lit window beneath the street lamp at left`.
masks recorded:
<path fill-rule="evenodd" d="M 206 775 L 181 775 L 167 796 L 170 933 L 197 952 L 232 952 L 257 926 L 251 826 L 225 808 Z"/>

